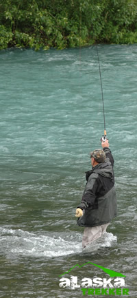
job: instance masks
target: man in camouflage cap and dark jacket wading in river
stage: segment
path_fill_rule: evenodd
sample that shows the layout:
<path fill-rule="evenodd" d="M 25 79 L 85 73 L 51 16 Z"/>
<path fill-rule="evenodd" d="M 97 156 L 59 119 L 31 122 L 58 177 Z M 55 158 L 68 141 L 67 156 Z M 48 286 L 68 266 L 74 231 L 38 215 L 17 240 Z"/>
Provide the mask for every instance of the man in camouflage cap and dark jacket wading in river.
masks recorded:
<path fill-rule="evenodd" d="M 84 226 L 82 246 L 97 240 L 116 216 L 116 191 L 114 188 L 114 159 L 108 140 L 101 143 L 103 149 L 90 153 L 92 170 L 86 172 L 86 187 L 82 202 L 76 209 L 77 224 Z"/>

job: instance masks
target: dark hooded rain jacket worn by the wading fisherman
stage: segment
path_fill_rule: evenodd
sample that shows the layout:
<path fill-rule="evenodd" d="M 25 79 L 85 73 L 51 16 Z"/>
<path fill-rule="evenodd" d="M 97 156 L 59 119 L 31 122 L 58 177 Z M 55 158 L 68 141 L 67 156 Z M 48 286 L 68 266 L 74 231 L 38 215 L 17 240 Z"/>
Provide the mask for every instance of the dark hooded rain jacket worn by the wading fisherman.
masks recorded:
<path fill-rule="evenodd" d="M 114 159 L 108 147 L 105 151 L 105 162 L 97 164 L 86 172 L 86 187 L 82 202 L 77 206 L 84 211 L 79 217 L 79 226 L 92 227 L 107 224 L 116 216 L 116 191 L 114 188 Z"/>

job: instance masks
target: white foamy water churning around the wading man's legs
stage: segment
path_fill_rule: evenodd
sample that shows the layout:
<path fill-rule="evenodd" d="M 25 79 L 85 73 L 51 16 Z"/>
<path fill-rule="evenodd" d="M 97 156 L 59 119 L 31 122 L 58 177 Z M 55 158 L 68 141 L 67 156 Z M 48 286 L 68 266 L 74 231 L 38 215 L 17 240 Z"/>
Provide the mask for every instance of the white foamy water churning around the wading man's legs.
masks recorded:
<path fill-rule="evenodd" d="M 59 257 L 82 253 L 82 234 L 58 233 L 54 235 L 36 235 L 21 229 L 13 230 L 0 228 L 0 251 L 6 255 L 25 257 Z M 84 249 L 86 252 L 95 252 L 99 248 L 110 247 L 116 242 L 116 236 L 105 233 L 94 244 Z"/>

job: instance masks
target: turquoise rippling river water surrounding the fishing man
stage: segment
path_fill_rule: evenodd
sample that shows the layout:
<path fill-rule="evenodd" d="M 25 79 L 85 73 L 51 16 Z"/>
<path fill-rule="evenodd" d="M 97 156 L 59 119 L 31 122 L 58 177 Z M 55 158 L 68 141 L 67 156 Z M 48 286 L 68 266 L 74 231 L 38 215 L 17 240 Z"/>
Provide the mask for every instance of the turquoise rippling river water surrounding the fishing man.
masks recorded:
<path fill-rule="evenodd" d="M 0 52 L 2 298 L 115 297 L 60 287 L 88 262 L 125 275 L 121 297 L 137 296 L 137 45 L 98 50 L 118 216 L 86 251 L 75 209 L 103 134 L 96 47 Z M 92 264 L 71 275 L 109 277 Z"/>

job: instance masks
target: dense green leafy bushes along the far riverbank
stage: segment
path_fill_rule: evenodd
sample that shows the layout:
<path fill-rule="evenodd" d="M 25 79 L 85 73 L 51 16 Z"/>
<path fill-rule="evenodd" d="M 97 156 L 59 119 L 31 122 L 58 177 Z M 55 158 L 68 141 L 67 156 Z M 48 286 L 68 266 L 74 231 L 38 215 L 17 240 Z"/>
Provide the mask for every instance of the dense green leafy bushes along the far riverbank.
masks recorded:
<path fill-rule="evenodd" d="M 136 43 L 136 0 L 1 0 L 0 50 Z"/>

